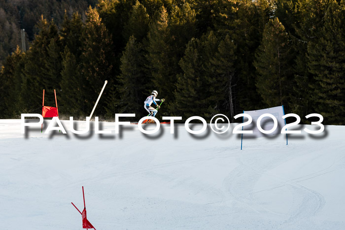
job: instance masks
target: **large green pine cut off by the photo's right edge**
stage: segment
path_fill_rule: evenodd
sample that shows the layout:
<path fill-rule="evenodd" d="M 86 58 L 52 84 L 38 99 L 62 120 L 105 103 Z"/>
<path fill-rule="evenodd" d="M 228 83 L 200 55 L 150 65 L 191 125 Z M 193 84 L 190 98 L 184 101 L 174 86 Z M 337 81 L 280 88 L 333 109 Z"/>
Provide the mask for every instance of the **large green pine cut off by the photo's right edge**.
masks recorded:
<path fill-rule="evenodd" d="M 326 124 L 344 124 L 345 114 L 345 10 L 330 3 L 324 25 L 308 44 L 309 71 L 313 75 L 311 99 Z"/>

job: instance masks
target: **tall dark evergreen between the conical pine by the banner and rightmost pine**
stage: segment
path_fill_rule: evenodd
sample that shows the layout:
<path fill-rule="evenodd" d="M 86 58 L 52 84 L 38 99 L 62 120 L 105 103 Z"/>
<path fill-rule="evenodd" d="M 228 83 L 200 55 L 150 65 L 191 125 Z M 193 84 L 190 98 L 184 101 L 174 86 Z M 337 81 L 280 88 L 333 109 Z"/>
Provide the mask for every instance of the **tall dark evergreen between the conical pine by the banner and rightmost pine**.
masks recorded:
<path fill-rule="evenodd" d="M 296 20 L 293 24 L 294 31 L 292 35 L 294 33 L 296 35 L 292 36 L 292 42 L 296 54 L 290 108 L 291 112 L 299 114 L 304 122 L 306 122 L 304 117 L 314 112 L 314 102 L 311 98 L 313 89 L 310 86 L 313 76 L 308 69 L 308 45 L 317 39 L 318 30 L 323 25 L 322 20 L 328 2 L 329 0 L 299 0 L 293 7 Z"/>

